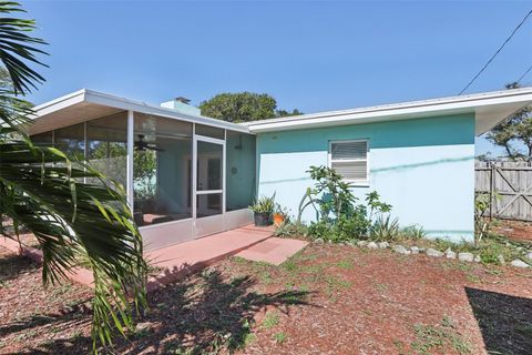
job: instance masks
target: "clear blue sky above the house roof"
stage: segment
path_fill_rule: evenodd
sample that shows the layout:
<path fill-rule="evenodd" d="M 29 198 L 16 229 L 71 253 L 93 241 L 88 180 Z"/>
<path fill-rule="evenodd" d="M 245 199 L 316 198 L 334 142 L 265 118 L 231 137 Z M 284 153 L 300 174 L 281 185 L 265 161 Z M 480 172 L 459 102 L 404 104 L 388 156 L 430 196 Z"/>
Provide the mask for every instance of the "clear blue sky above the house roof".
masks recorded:
<path fill-rule="evenodd" d="M 41 103 L 89 88 L 158 103 L 266 92 L 304 112 L 457 94 L 531 1 L 23 1 L 50 45 Z M 532 64 L 532 19 L 468 92 Z M 532 73 L 523 80 L 532 84 Z M 478 153 L 495 151 L 479 140 Z"/>

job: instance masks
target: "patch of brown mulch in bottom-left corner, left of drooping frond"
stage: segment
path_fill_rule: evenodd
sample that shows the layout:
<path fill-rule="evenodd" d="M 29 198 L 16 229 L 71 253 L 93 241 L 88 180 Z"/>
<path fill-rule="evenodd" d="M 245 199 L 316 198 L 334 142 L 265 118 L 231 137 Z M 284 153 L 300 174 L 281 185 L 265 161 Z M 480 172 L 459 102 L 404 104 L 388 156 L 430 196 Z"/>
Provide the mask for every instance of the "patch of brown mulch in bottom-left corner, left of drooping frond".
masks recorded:
<path fill-rule="evenodd" d="M 86 353 L 89 343 L 78 337 L 90 332 L 91 297 L 91 290 L 69 282 L 42 286 L 39 265 L 0 247 L 0 353 L 59 343 Z"/>

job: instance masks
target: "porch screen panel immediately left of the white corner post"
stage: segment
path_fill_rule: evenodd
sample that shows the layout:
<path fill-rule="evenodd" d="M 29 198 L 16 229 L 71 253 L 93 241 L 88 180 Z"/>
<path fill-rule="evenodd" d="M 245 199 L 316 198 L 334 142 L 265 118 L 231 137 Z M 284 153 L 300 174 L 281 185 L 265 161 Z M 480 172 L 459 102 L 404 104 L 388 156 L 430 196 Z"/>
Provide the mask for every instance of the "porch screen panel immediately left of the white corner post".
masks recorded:
<path fill-rule="evenodd" d="M 92 168 L 119 182 L 125 190 L 127 164 L 127 113 L 120 112 L 86 122 L 88 160 Z M 99 183 L 98 179 L 88 182 Z"/>

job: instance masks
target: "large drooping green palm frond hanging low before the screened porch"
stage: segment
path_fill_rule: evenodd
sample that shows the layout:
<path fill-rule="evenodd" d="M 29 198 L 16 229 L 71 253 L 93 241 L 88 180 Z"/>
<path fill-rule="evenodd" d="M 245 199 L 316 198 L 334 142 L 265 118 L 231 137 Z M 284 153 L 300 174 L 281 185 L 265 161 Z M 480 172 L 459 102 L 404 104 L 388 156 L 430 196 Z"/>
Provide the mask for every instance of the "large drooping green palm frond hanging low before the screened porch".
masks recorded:
<path fill-rule="evenodd" d="M 84 178 L 99 184 L 84 184 Z M 104 345 L 112 344 L 112 328 L 131 328 L 127 291 L 145 305 L 142 237 L 123 196 L 120 184 L 53 148 L 23 140 L 0 144 L 0 216 L 34 233 L 44 283 L 59 282 L 85 261 L 94 276 L 93 339 Z"/>

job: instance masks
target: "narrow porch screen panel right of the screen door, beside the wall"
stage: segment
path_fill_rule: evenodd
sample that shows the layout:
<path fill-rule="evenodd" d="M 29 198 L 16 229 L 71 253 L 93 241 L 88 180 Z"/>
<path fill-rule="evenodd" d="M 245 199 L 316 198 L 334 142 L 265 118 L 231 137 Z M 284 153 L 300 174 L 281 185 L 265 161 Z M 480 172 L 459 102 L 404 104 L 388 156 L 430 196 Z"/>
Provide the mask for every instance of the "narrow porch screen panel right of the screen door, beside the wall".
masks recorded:
<path fill-rule="evenodd" d="M 255 135 L 227 131 L 226 210 L 247 209 L 256 189 Z"/>

